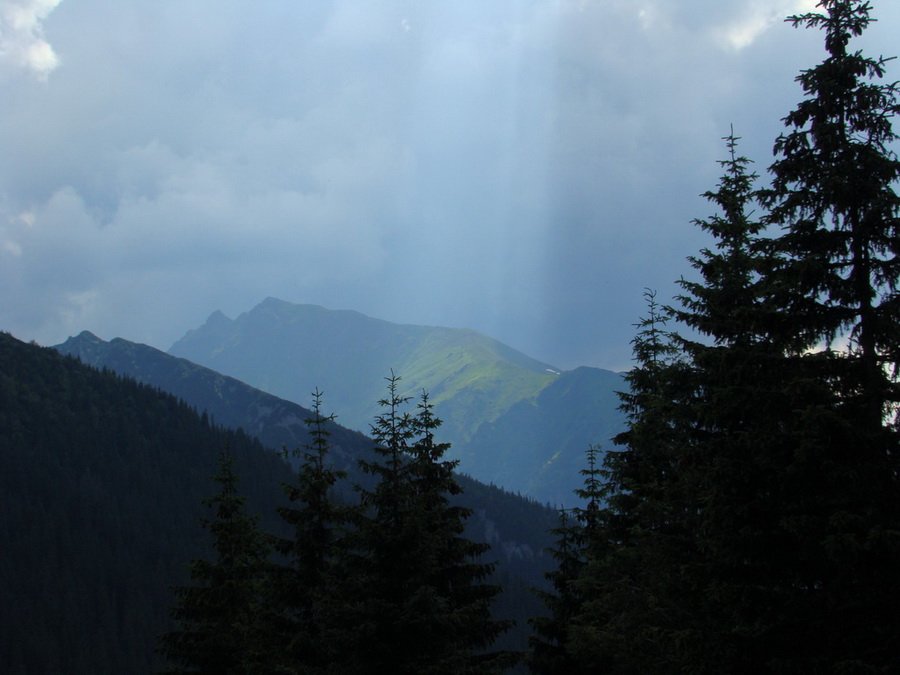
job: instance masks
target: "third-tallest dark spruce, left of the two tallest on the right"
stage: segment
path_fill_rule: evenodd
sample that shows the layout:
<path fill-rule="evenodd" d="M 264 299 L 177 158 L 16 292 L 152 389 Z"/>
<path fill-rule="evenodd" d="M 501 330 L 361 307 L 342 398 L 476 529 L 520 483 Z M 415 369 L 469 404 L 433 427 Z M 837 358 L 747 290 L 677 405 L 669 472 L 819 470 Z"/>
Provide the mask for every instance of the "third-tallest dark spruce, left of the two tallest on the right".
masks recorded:
<path fill-rule="evenodd" d="M 692 426 L 690 398 L 670 312 L 646 293 L 648 316 L 633 340 L 636 366 L 621 394 L 627 429 L 604 458 L 606 506 L 586 539 L 587 562 L 572 582 L 582 599 L 568 651 L 589 672 L 677 672 L 672 645 L 691 608 L 679 570 L 694 552 L 685 518 L 681 455 Z"/>

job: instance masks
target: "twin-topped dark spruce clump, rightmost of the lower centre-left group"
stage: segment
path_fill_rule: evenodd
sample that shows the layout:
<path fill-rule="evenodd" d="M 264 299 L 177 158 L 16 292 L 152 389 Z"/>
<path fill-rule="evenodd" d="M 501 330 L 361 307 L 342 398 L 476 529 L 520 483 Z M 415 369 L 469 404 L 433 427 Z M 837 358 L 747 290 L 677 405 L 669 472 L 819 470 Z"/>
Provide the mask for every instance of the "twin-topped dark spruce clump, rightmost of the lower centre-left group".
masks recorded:
<path fill-rule="evenodd" d="M 385 412 L 372 426 L 380 459 L 361 461 L 376 478 L 360 488 L 365 513 L 346 561 L 345 620 L 354 626 L 341 667 L 359 673 L 491 673 L 509 664 L 490 645 L 505 628 L 490 605 L 499 588 L 484 580 L 488 546 L 463 536 L 468 509 L 449 498 L 461 489 L 455 462 L 436 443 L 440 421 L 423 395 L 418 412 L 387 378 Z"/>

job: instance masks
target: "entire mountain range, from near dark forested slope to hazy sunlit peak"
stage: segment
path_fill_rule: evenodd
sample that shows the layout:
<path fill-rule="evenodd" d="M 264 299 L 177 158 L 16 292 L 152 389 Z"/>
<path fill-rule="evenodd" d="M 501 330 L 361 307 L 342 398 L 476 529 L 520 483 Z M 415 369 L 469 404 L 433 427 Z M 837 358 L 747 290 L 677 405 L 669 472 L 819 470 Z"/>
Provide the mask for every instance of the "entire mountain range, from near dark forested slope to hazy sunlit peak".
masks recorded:
<path fill-rule="evenodd" d="M 192 350 L 192 360 L 176 355 Z M 495 484 L 460 475 L 458 499 L 473 510 L 467 535 L 499 561 L 497 615 L 519 619 L 504 646 L 524 647 L 525 619 L 542 611 L 529 589 L 553 565 L 545 548 L 557 515 L 540 501 L 574 502 L 584 449 L 620 428 L 618 374 L 560 372 L 473 331 L 273 299 L 235 320 L 213 314 L 171 352 L 87 331 L 55 350 L 0 335 L 0 533 L 9 543 L 0 563 L 17 580 L 0 589 L 0 624 L 12 636 L 0 671 L 153 669 L 169 588 L 183 582 L 186 562 L 208 554 L 197 521 L 216 453 L 236 453 L 248 503 L 275 531 L 290 471 L 266 448 L 308 443 L 310 412 L 294 401 L 325 391 L 340 421 L 365 430 L 392 370 L 411 396 L 431 393 L 448 420 L 439 433 L 455 435 L 464 470 Z M 329 431 L 348 487 L 365 480 L 358 459 L 371 439 L 336 423 Z"/>

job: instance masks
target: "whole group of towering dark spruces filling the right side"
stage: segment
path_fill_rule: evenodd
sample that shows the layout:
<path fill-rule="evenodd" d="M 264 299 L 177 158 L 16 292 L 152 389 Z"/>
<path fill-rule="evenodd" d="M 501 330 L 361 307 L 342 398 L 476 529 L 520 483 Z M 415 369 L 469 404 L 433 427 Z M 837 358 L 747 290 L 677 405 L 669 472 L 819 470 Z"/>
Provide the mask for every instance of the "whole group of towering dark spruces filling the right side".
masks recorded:
<path fill-rule="evenodd" d="M 758 189 L 738 139 L 674 307 L 647 295 L 627 429 L 564 514 L 535 673 L 900 672 L 900 163 L 870 4 L 791 17 L 797 78 Z M 679 330 L 670 328 L 672 324 Z"/>

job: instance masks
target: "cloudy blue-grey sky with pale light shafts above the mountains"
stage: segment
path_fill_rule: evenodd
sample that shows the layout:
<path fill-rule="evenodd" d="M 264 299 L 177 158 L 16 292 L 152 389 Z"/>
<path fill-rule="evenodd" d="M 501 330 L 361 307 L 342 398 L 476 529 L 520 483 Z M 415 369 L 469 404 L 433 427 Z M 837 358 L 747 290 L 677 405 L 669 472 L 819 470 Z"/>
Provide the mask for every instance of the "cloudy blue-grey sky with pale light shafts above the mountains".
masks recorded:
<path fill-rule="evenodd" d="M 165 350 L 272 296 L 626 369 L 732 125 L 765 180 L 814 6 L 0 0 L 0 330 Z"/>

